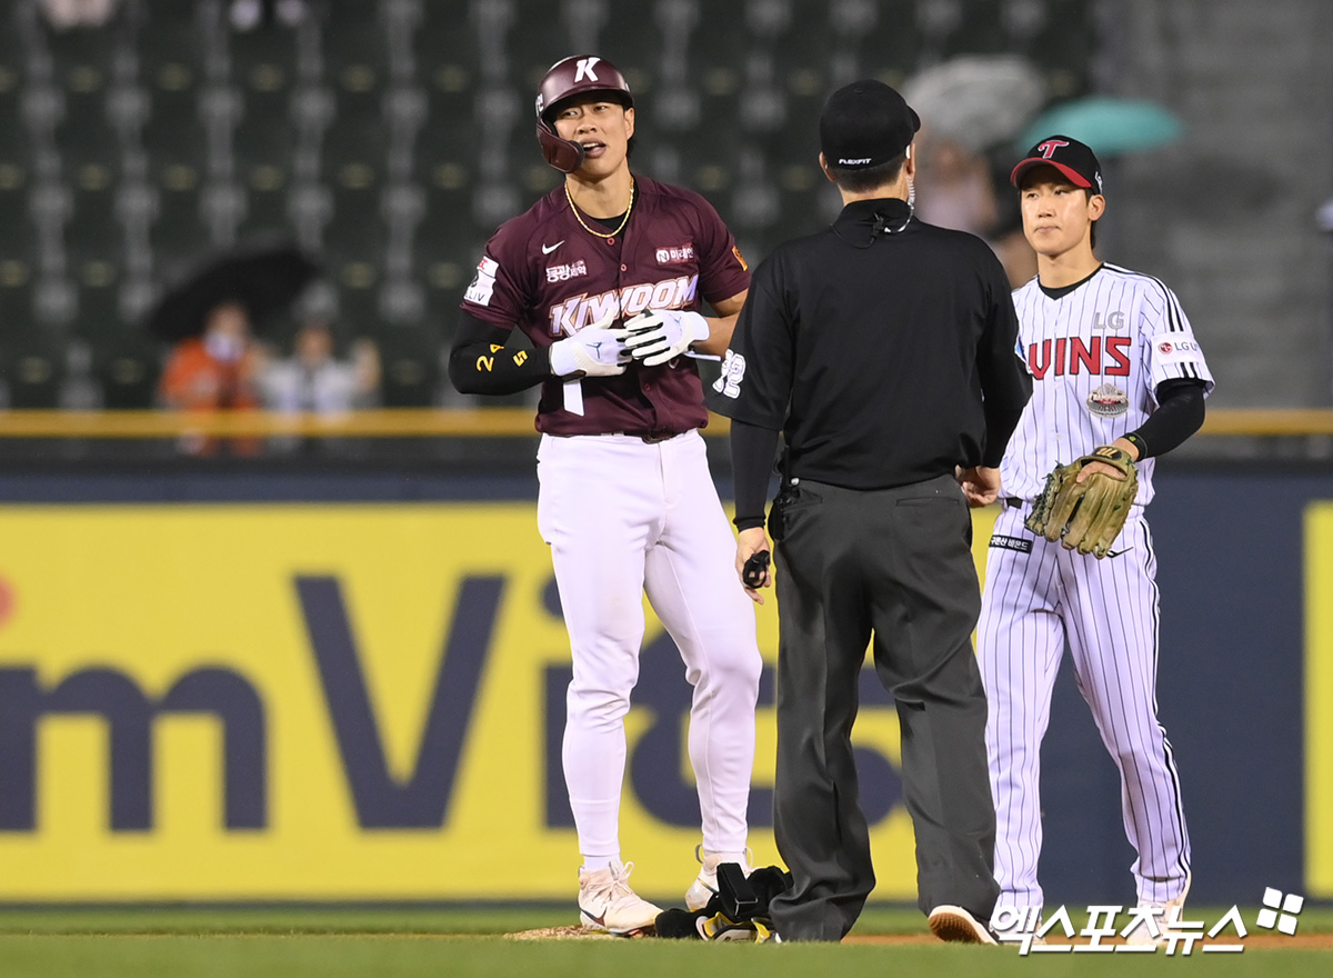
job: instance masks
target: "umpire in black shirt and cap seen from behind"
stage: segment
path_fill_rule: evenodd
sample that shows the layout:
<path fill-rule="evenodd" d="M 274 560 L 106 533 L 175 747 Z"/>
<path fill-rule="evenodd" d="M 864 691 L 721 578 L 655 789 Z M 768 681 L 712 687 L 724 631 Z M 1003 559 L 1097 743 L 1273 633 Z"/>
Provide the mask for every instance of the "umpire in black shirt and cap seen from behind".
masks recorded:
<path fill-rule="evenodd" d="M 1032 383 L 1000 262 L 912 216 L 920 120 L 878 81 L 834 92 L 820 165 L 844 208 L 754 272 L 716 408 L 733 419 L 737 570 L 777 548 L 774 831 L 794 886 L 784 941 L 840 941 L 874 887 L 852 723 L 866 646 L 902 731 L 917 886 L 945 941 L 990 943 L 994 809 L 968 503 L 993 502 Z M 760 558 L 762 559 L 762 558 Z M 742 574 L 750 596 L 766 570 Z"/>

